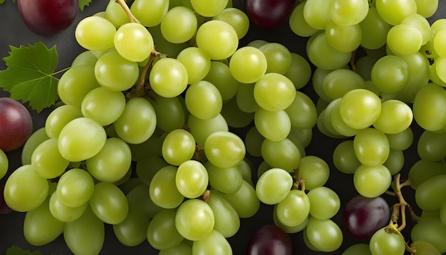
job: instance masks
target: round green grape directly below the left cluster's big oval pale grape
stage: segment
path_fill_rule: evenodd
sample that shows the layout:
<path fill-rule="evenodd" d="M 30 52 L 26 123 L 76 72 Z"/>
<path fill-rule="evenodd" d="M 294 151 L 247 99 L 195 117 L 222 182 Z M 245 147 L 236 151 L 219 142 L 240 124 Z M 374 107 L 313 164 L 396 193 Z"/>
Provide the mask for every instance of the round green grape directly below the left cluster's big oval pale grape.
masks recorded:
<path fill-rule="evenodd" d="M 90 200 L 95 189 L 93 177 L 82 169 L 73 168 L 63 173 L 57 184 L 57 198 L 67 207 L 80 207 Z"/>

